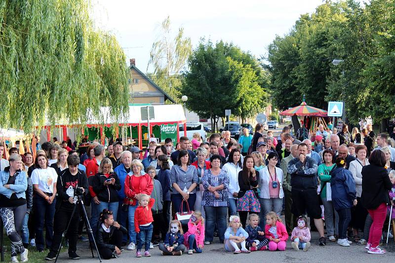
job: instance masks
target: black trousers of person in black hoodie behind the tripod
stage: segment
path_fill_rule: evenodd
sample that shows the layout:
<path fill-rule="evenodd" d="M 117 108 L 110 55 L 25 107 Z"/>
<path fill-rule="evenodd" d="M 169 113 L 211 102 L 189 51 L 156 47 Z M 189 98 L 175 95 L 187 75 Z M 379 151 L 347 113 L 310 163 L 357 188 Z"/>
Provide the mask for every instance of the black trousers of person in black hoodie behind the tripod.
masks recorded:
<path fill-rule="evenodd" d="M 64 209 L 60 207 L 55 212 L 55 217 L 53 220 L 53 240 L 52 246 L 50 248 L 51 252 L 57 253 L 60 247 L 60 242 L 62 241 L 62 234 L 66 230 L 67 225 L 70 222 L 69 230 L 66 235 L 69 239 L 69 252 L 77 251 L 77 239 L 78 239 L 78 227 L 79 227 L 79 209 L 76 209 L 73 218 L 71 214 L 73 211 L 69 209 Z"/>

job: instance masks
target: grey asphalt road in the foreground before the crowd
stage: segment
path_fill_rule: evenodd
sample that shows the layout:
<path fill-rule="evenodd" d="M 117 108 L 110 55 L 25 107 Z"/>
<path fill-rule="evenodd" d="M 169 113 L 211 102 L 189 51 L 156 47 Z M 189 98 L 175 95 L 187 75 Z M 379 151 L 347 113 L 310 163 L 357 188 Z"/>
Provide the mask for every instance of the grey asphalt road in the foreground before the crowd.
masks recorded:
<path fill-rule="evenodd" d="M 218 239 L 214 239 L 218 242 Z M 294 251 L 291 247 L 291 242 L 287 242 L 287 248 L 285 251 L 257 251 L 251 252 L 250 254 L 239 254 L 234 255 L 232 252 L 226 252 L 224 244 L 214 243 L 206 245 L 203 248 L 202 254 L 188 255 L 183 254 L 180 257 L 172 256 L 161 256 L 158 247 L 155 247 L 150 251 L 152 256 L 150 258 L 136 259 L 136 251 L 124 250 L 118 259 L 112 259 L 103 262 L 114 262 L 114 263 L 129 263 L 131 261 L 139 262 L 161 262 L 161 263 L 174 263 L 174 262 L 207 262 L 207 263 L 224 263 L 224 262 L 314 262 L 314 263 L 328 263 L 328 262 L 341 262 L 341 263 L 356 263 L 358 262 L 377 262 L 377 263 L 389 263 L 395 260 L 395 243 L 393 240 L 389 242 L 388 246 L 383 246 L 387 249 L 387 253 L 384 255 L 371 255 L 366 252 L 364 246 L 358 246 L 352 244 L 350 247 L 341 247 L 335 242 L 327 241 L 327 245 L 320 247 L 318 244 L 317 232 L 312 232 L 312 246 L 309 251 Z M 81 256 L 82 262 L 86 263 L 97 263 L 99 262 L 96 252 L 95 258 L 92 259 L 90 250 L 87 242 L 79 242 L 78 254 Z M 69 260 L 67 253 L 62 253 L 59 256 L 58 262 L 64 263 L 75 263 L 76 261 Z"/>

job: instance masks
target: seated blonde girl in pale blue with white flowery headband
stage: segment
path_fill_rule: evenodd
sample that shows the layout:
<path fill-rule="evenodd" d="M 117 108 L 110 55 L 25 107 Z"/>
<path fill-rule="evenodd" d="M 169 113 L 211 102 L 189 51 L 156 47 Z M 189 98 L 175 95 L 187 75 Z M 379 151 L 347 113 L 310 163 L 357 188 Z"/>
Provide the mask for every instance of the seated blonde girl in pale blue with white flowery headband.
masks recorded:
<path fill-rule="evenodd" d="M 229 218 L 229 228 L 225 231 L 225 249 L 233 251 L 233 254 L 250 253 L 245 247 L 245 240 L 248 233 L 243 230 L 238 216 Z M 241 248 L 241 250 L 240 250 Z"/>

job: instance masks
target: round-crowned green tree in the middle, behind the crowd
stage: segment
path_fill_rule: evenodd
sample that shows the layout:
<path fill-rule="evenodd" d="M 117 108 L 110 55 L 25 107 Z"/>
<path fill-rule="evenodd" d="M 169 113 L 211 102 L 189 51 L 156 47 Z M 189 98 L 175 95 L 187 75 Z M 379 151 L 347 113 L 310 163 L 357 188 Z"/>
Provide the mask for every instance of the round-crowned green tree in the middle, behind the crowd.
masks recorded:
<path fill-rule="evenodd" d="M 200 41 L 188 60 L 181 93 L 189 97 L 187 107 L 209 117 L 215 130 L 225 109 L 246 117 L 267 105 L 268 77 L 258 61 L 232 43 Z"/>

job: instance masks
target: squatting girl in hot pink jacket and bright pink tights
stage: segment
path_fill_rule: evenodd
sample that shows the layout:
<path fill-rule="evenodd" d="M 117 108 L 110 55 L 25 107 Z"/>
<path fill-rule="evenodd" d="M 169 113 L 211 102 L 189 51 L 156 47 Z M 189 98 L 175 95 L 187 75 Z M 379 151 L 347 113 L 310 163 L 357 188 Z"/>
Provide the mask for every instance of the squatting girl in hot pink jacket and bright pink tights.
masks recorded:
<path fill-rule="evenodd" d="M 270 251 L 285 250 L 288 233 L 281 219 L 273 211 L 266 215 L 265 236 L 269 238 Z"/>

